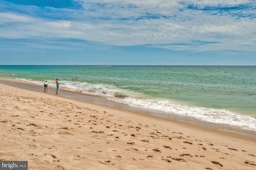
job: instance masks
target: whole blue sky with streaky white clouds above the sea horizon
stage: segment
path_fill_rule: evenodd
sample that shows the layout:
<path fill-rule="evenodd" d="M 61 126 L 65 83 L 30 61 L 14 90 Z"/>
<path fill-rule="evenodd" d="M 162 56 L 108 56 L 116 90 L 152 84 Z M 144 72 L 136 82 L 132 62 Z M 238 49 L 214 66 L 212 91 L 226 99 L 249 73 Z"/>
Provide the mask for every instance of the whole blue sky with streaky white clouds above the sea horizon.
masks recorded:
<path fill-rule="evenodd" d="M 256 1 L 0 0 L 0 64 L 256 65 Z"/>

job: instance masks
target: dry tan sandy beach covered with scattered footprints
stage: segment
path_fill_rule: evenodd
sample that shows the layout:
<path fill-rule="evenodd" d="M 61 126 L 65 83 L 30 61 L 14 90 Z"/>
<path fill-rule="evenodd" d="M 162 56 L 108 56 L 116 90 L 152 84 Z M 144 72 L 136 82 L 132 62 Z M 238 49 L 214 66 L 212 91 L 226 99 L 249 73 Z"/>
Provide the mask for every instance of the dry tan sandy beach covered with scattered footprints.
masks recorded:
<path fill-rule="evenodd" d="M 253 138 L 6 84 L 0 91 L 0 160 L 28 161 L 29 170 L 256 168 Z"/>

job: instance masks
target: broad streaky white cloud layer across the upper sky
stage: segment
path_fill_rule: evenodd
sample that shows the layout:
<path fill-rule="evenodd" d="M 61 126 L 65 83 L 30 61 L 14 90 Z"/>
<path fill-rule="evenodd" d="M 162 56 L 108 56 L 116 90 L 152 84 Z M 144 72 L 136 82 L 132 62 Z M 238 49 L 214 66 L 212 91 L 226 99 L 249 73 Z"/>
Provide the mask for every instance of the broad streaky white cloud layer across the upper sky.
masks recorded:
<path fill-rule="evenodd" d="M 256 51 L 254 31 L 256 18 L 239 17 L 246 16 L 246 12 L 251 14 L 251 11 L 238 9 L 230 12 L 222 9 L 226 6 L 255 4 L 252 0 L 80 0 L 79 2 L 83 2 L 83 8 L 79 10 L 40 9 L 30 6 L 27 13 L 24 12 L 26 9 L 2 12 L 0 37 L 81 39 L 124 46 L 149 44 L 152 47 L 178 51 L 224 49 Z M 192 7 L 188 8 L 186 4 Z M 209 6 L 218 9 L 200 10 Z M 45 18 L 44 14 L 39 12 L 37 14 L 37 10 L 45 12 L 45 16 L 48 17 Z M 50 16 L 51 12 L 58 13 L 58 16 L 62 17 Z M 237 15 L 238 17 L 234 17 Z M 218 43 L 192 44 L 193 40 Z"/>

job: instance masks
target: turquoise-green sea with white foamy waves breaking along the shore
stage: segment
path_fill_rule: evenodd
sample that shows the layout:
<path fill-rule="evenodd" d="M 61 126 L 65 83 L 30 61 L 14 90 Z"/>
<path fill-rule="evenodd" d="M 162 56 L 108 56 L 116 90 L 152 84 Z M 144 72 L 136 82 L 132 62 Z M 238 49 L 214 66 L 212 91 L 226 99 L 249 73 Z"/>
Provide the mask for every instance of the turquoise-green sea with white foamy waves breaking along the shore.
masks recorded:
<path fill-rule="evenodd" d="M 0 65 L 0 77 L 54 88 L 58 78 L 68 90 L 256 131 L 256 66 Z"/>

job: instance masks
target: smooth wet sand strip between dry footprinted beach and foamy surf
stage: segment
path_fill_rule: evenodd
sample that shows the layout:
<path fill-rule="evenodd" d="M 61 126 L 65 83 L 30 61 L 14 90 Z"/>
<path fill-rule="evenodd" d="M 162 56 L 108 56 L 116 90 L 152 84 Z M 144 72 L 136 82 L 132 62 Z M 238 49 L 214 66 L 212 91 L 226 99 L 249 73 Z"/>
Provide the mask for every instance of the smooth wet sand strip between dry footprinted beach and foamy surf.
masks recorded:
<path fill-rule="evenodd" d="M 24 88 L 27 90 L 43 92 L 43 86 L 40 86 L 39 84 L 35 84 L 32 82 L 28 82 L 28 81 L 9 79 L 9 78 L 0 78 L 0 84 L 1 83 L 16 86 L 19 88 Z M 169 119 L 169 120 L 173 120 L 173 121 L 188 123 L 188 124 L 208 128 L 208 129 L 214 129 L 214 130 L 219 130 L 219 131 L 235 133 L 237 135 L 242 135 L 245 137 L 250 137 L 250 138 L 256 139 L 256 131 L 242 129 L 242 127 L 236 127 L 236 126 L 232 126 L 232 125 L 219 124 L 219 123 L 211 123 L 211 122 L 207 122 L 207 121 L 198 120 L 194 117 L 182 116 L 182 115 L 177 115 L 177 114 L 173 114 L 173 113 L 166 114 L 165 112 L 162 112 L 162 111 L 130 107 L 126 104 L 110 101 L 110 100 L 106 99 L 106 97 L 94 96 L 91 94 L 84 94 L 82 92 L 65 90 L 61 86 L 60 86 L 60 90 L 61 90 L 61 92 L 56 93 L 56 85 L 49 86 L 48 93 L 55 94 L 55 95 L 61 96 L 61 97 L 74 99 L 74 100 L 81 100 L 84 102 L 101 104 L 104 106 L 120 108 L 120 109 L 124 109 L 124 110 L 128 110 L 128 111 L 135 111 L 135 112 L 146 114 L 146 115 L 152 115 L 154 117 L 160 117 L 160 118 Z"/>

